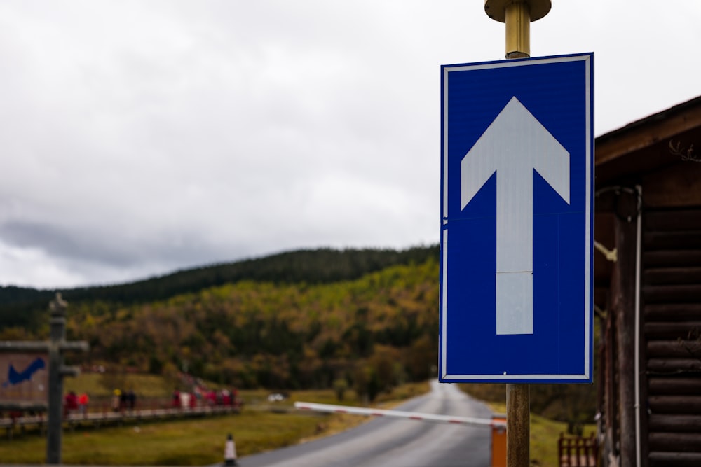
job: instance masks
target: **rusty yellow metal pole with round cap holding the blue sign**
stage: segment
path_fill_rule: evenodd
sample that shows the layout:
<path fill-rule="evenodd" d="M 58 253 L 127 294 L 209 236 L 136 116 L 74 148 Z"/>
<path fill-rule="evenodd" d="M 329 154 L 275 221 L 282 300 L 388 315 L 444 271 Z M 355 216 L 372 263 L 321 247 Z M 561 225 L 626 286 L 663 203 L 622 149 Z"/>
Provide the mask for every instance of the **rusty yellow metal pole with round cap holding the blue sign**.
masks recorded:
<path fill-rule="evenodd" d="M 505 23 L 506 58 L 531 56 L 531 21 L 550 11 L 550 0 L 485 0 L 484 12 Z M 531 386 L 506 385 L 506 465 L 528 467 L 531 439 Z"/>

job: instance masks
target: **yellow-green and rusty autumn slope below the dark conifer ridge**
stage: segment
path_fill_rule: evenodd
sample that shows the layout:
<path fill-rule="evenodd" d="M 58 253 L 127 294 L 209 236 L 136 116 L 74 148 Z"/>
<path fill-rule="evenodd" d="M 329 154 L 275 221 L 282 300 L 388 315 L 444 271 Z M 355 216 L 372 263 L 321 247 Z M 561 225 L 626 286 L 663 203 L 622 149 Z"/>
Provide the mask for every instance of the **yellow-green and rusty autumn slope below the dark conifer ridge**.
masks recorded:
<path fill-rule="evenodd" d="M 438 265 L 393 266 L 333 284 L 239 281 L 130 305 L 72 308 L 69 335 L 90 361 L 168 372 L 186 362 L 205 379 L 239 387 L 367 384 L 373 396 L 426 379 L 437 359 Z"/>

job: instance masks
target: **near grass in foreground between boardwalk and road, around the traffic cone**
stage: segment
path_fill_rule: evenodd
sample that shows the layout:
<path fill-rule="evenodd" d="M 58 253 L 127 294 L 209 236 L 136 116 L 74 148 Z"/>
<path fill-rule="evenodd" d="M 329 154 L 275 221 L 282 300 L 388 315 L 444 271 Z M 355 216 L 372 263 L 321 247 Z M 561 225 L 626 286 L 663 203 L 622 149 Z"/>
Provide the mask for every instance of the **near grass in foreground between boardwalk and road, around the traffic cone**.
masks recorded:
<path fill-rule="evenodd" d="M 239 456 L 290 445 L 318 430 L 319 417 L 245 411 L 240 415 L 64 432 L 63 462 L 97 465 L 205 465 L 224 459 L 226 435 Z M 46 440 L 0 442 L 3 463 L 43 463 Z"/>

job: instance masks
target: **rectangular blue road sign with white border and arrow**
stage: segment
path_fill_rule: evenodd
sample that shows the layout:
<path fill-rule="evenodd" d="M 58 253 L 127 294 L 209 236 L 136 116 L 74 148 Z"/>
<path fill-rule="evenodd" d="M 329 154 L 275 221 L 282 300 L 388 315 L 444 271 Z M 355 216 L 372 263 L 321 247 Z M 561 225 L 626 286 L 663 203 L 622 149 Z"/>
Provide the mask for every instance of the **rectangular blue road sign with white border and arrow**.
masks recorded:
<path fill-rule="evenodd" d="M 441 71 L 440 380 L 591 382 L 594 55 Z"/>

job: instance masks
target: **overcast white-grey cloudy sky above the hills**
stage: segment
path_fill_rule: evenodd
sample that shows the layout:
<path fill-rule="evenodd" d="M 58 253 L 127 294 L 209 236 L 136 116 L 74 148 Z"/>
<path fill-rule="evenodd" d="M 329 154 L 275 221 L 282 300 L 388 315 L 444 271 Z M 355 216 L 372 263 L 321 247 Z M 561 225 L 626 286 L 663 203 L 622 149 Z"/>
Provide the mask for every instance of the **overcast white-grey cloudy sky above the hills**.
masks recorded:
<path fill-rule="evenodd" d="M 701 95 L 701 2 L 553 0 L 595 133 Z M 115 284 L 440 233 L 440 65 L 483 0 L 0 0 L 0 285 Z"/>

